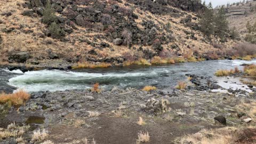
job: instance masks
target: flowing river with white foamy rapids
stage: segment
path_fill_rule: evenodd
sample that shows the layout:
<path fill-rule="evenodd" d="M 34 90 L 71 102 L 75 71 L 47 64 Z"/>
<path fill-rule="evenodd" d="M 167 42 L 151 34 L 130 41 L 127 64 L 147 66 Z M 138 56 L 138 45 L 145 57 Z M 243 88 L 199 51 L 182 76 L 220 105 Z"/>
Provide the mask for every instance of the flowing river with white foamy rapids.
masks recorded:
<path fill-rule="evenodd" d="M 243 69 L 243 63 L 256 63 L 256 60 L 211 60 L 202 62 L 177 63 L 172 65 L 113 67 L 105 69 L 78 69 L 73 71 L 39 70 L 22 73 L 20 70 L 9 71 L 0 69 L 0 80 L 9 79 L 8 84 L 35 91 L 81 90 L 98 82 L 109 90 L 118 87 L 143 87 L 154 85 L 159 88 L 174 87 L 184 81 L 185 74 L 211 76 L 215 79 L 218 69 L 231 69 L 237 66 Z"/>

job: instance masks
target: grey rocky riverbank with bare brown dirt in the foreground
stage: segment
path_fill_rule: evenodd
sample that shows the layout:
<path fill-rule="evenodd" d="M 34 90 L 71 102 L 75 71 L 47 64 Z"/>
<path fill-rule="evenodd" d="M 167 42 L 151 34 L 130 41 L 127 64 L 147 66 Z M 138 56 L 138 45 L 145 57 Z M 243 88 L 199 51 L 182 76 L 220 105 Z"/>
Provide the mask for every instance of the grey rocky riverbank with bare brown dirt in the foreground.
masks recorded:
<path fill-rule="evenodd" d="M 82 143 L 85 138 L 97 143 L 135 143 L 139 131 L 149 132 L 148 143 L 173 143 L 184 134 L 202 129 L 255 125 L 253 117 L 239 108 L 242 103 L 252 102 L 255 94 L 234 97 L 211 92 L 210 89 L 220 88 L 211 78 L 189 76 L 194 84 L 182 91 L 166 88 L 145 92 L 114 87 L 100 93 L 32 93 L 31 99 L 18 110 L 6 111 L 1 105 L 5 113 L 1 114 L 0 131 L 12 122 L 20 126 L 29 124 L 30 129 L 23 134 L 25 143 L 39 143 L 31 141 L 31 135 L 42 127 L 48 131 L 45 139 L 54 143 Z M 137 124 L 139 117 L 144 125 Z M 1 141 L 15 143 L 15 137 Z"/>

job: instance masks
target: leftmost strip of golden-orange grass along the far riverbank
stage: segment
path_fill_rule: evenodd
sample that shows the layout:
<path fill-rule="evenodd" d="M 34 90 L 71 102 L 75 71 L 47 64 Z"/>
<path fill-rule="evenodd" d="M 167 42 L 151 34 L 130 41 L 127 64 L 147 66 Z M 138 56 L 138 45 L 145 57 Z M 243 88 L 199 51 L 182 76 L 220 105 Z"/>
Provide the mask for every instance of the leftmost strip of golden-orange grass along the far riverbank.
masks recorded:
<path fill-rule="evenodd" d="M 90 63 L 87 61 L 84 62 L 77 62 L 75 65 L 72 66 L 73 69 L 79 68 L 108 68 L 112 66 L 111 63 L 101 62 L 101 63 Z"/>

